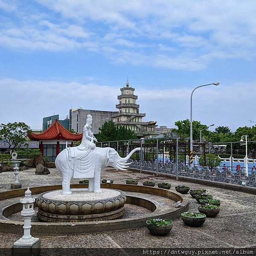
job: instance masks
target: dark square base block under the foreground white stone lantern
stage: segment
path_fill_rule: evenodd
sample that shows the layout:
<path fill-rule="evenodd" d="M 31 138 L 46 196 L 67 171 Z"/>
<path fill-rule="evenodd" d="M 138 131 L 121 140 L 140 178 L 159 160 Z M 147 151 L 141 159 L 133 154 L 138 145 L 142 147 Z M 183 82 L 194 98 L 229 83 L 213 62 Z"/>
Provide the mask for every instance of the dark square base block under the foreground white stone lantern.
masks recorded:
<path fill-rule="evenodd" d="M 38 238 L 32 244 L 15 242 L 12 246 L 12 256 L 39 256 L 41 253 L 41 240 Z"/>

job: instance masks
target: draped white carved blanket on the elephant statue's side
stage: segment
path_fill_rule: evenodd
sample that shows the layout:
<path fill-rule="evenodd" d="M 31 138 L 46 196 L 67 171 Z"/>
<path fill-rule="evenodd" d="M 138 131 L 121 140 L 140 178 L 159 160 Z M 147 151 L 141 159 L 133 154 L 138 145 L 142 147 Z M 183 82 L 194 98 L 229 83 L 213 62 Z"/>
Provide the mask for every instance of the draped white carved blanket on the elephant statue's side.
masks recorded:
<path fill-rule="evenodd" d="M 93 178 L 95 170 L 95 150 L 90 147 L 79 150 L 77 147 L 66 148 L 68 165 L 74 170 L 74 178 Z"/>

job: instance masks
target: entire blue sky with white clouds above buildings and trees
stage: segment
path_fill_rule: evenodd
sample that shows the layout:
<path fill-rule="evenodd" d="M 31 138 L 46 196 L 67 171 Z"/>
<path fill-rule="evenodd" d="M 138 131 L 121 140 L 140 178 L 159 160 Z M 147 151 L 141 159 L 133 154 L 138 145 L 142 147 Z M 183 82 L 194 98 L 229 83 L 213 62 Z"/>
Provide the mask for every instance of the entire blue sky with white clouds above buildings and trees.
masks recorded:
<path fill-rule="evenodd" d="M 127 76 L 145 121 L 256 119 L 255 1 L 0 0 L 0 122 L 113 110 Z"/>

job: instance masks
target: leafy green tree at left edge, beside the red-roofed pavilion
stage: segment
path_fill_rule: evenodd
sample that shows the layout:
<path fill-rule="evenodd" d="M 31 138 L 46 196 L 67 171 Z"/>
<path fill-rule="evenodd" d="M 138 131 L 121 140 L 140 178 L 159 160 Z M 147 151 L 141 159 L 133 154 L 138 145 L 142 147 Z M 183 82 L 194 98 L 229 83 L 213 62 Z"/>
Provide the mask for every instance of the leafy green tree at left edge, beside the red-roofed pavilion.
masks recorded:
<path fill-rule="evenodd" d="M 30 127 L 24 122 L 13 122 L 0 125 L 0 140 L 8 143 L 8 152 L 13 146 L 13 149 L 19 149 L 27 140 L 27 133 L 31 132 Z"/>

